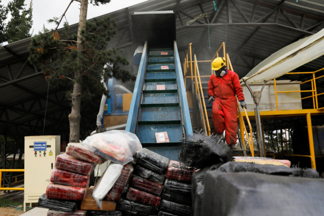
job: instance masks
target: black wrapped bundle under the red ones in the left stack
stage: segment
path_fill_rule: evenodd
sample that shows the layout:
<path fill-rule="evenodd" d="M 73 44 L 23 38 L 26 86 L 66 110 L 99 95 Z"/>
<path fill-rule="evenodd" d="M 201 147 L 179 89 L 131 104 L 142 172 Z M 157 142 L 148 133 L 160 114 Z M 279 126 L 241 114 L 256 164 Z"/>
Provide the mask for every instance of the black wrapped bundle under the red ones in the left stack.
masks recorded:
<path fill-rule="evenodd" d="M 46 198 L 46 195 L 43 194 L 41 197 L 39 197 L 37 206 L 55 211 L 74 212 L 79 206 L 79 202 L 48 199 Z"/>

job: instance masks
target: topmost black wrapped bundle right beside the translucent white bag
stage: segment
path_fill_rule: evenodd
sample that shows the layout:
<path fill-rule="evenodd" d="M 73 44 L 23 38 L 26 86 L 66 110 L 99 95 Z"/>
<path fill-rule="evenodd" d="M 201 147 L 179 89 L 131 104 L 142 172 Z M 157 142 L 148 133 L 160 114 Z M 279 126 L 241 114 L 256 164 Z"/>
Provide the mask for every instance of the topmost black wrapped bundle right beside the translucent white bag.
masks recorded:
<path fill-rule="evenodd" d="M 135 155 L 136 163 L 139 163 L 153 171 L 156 171 L 159 174 L 164 174 L 165 170 L 168 167 L 169 161 L 170 160 L 168 158 L 152 152 L 146 148 L 137 151 Z"/>

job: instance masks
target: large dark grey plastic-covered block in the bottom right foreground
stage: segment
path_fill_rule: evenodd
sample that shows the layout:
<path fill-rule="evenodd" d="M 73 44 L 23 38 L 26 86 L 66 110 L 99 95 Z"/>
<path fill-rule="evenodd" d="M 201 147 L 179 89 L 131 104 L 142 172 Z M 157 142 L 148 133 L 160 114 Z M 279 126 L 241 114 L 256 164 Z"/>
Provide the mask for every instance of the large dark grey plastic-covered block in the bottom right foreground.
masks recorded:
<path fill-rule="evenodd" d="M 207 172 L 201 215 L 322 215 L 324 180 Z"/>

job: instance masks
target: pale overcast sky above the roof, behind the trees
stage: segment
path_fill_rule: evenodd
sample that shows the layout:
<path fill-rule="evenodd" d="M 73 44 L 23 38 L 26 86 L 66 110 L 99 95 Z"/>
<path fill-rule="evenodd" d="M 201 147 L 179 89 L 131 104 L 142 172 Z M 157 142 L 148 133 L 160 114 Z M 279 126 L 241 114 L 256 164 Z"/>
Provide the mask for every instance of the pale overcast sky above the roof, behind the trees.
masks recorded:
<path fill-rule="evenodd" d="M 10 1 L 12 0 L 2 0 L 2 4 L 7 6 Z M 30 1 L 31 0 L 25 0 L 25 4 L 27 5 L 26 7 L 29 7 Z M 108 14 L 110 12 L 127 8 L 146 1 L 147 0 L 111 0 L 110 3 L 106 5 L 93 6 L 89 4 L 87 19 Z M 69 0 L 33 0 L 33 35 L 41 31 L 44 24 L 47 29 L 54 28 L 55 25 L 49 24 L 47 20 L 52 19 L 53 17 L 60 17 L 64 13 L 69 3 Z M 79 14 L 79 3 L 73 2 L 65 15 L 68 23 L 70 25 L 77 23 L 79 20 Z M 9 19 L 10 15 L 8 17 L 8 21 Z M 59 27 L 63 27 L 64 21 L 65 19 L 63 18 Z"/>

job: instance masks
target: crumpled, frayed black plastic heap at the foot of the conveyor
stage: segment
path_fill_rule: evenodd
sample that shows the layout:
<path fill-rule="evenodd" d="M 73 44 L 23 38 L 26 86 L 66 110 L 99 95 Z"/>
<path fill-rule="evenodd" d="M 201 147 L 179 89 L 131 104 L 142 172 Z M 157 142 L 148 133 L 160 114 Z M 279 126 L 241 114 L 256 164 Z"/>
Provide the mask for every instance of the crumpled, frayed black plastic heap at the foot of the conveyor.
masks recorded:
<path fill-rule="evenodd" d="M 234 152 L 221 141 L 221 135 L 206 137 L 195 133 L 190 140 L 184 140 L 184 149 L 179 152 L 179 160 L 186 166 L 204 168 L 219 162 L 230 161 Z"/>

